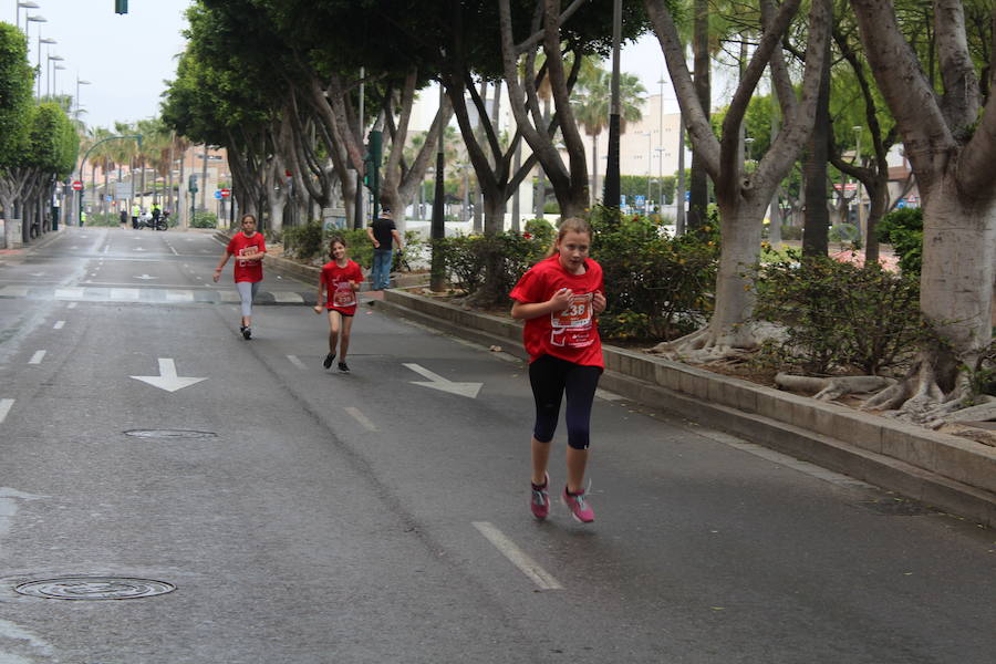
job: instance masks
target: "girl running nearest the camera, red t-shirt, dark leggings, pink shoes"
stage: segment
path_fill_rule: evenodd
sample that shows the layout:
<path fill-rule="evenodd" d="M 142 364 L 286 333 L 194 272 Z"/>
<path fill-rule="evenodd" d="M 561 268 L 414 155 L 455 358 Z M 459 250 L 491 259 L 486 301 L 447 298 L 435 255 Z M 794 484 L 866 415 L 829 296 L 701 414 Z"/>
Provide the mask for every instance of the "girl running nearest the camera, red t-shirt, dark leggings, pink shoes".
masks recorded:
<path fill-rule="evenodd" d="M 591 227 L 564 219 L 546 260 L 530 268 L 510 297 L 513 319 L 525 320 L 529 382 L 536 400 L 532 429 L 532 515 L 550 512 L 547 463 L 567 394 L 567 486 L 561 500 L 582 523 L 594 520 L 584 494 L 591 405 L 604 370 L 595 317 L 605 310 L 602 268 L 588 257 Z"/>

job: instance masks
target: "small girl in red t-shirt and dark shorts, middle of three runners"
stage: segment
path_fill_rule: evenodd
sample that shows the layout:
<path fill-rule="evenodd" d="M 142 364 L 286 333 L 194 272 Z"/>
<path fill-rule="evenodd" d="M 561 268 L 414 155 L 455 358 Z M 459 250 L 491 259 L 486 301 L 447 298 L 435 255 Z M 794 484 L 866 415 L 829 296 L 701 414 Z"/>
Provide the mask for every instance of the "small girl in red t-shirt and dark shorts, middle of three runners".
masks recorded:
<path fill-rule="evenodd" d="M 350 330 L 356 314 L 356 291 L 363 281 L 363 271 L 354 261 L 346 258 L 345 240 L 334 237 L 329 241 L 329 255 L 332 260 L 322 267 L 319 279 L 318 300 L 314 312 L 322 309 L 329 311 L 329 354 L 322 366 L 330 369 L 335 361 L 335 346 L 339 345 L 339 371 L 350 373 L 345 363 L 350 350 Z M 342 341 L 340 342 L 340 331 Z"/>

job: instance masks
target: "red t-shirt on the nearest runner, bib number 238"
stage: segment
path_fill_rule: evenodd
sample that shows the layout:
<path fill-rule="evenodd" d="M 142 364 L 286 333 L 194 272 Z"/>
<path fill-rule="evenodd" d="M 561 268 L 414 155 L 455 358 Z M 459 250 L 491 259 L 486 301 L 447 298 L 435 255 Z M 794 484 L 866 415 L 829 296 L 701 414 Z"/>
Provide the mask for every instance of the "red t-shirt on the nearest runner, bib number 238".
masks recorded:
<path fill-rule="evenodd" d="M 530 362 L 553 355 L 575 364 L 605 367 L 593 308 L 594 293 L 604 292 L 602 267 L 589 258 L 584 268 L 583 274 L 571 274 L 554 255 L 527 270 L 512 289 L 511 299 L 523 303 L 546 302 L 562 288 L 573 292 L 571 305 L 563 311 L 526 321 L 522 340 Z"/>

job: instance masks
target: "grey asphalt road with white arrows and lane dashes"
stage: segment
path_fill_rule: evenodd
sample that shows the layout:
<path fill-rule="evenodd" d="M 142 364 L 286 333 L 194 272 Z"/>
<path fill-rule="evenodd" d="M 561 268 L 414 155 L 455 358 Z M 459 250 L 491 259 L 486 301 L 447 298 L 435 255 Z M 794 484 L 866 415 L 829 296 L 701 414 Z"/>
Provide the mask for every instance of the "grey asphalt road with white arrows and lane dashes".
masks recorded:
<path fill-rule="evenodd" d="M 519 361 L 363 304 L 325 371 L 272 271 L 243 341 L 221 249 L 0 256 L 0 664 L 994 661 L 993 531 L 611 394 L 536 522 Z"/>

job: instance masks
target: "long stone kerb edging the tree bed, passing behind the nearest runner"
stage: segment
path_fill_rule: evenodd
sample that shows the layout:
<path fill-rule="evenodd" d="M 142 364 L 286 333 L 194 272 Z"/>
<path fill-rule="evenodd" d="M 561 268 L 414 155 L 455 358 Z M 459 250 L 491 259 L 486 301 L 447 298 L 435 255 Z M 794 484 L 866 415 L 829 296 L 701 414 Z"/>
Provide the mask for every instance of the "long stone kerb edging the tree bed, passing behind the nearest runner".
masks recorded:
<path fill-rule="evenodd" d="M 527 359 L 516 321 L 398 290 L 371 304 Z M 996 448 L 679 362 L 603 351 L 605 390 L 996 527 Z"/>

